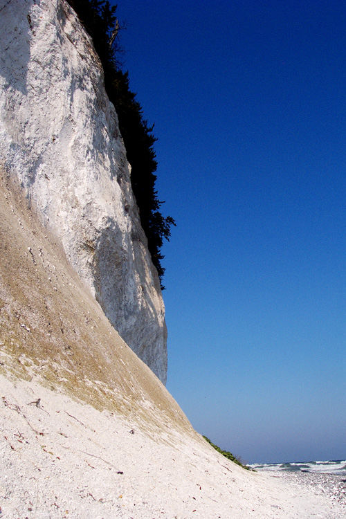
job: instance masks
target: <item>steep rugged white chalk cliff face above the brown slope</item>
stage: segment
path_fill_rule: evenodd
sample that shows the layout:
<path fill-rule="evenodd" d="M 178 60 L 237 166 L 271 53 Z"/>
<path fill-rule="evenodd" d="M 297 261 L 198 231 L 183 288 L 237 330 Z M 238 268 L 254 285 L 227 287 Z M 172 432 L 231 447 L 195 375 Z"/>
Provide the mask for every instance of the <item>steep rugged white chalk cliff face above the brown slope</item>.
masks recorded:
<path fill-rule="evenodd" d="M 0 2 L 0 166 L 120 336 L 163 383 L 165 310 L 116 111 L 65 0 Z"/>

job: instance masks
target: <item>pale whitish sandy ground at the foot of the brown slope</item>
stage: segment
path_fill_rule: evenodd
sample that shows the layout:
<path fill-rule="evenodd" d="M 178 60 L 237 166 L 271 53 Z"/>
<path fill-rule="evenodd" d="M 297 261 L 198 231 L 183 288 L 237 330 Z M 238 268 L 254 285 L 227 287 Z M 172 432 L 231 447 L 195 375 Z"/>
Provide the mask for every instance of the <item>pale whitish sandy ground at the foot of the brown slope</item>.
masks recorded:
<path fill-rule="evenodd" d="M 35 401 L 40 399 L 38 406 Z M 0 376 L 1 518 L 344 518 L 320 489 L 250 473 L 206 441 Z"/>

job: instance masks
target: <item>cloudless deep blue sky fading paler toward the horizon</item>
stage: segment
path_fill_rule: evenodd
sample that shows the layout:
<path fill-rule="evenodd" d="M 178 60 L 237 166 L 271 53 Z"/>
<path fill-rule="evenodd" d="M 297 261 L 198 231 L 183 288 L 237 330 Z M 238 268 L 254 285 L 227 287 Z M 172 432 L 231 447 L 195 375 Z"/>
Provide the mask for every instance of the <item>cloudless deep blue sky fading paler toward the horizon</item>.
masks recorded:
<path fill-rule="evenodd" d="M 246 462 L 346 458 L 346 3 L 118 0 L 158 138 L 167 388 Z"/>

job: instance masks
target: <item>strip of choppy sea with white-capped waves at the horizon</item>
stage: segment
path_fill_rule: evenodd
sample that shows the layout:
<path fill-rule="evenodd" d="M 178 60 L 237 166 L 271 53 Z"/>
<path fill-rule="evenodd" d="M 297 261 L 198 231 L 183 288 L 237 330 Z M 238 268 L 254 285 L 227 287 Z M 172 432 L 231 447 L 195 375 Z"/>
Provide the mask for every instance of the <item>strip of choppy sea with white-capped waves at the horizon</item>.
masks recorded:
<path fill-rule="evenodd" d="M 328 462 L 264 463 L 249 465 L 255 471 L 300 471 L 319 474 L 338 474 L 346 477 L 346 460 L 336 459 Z"/>

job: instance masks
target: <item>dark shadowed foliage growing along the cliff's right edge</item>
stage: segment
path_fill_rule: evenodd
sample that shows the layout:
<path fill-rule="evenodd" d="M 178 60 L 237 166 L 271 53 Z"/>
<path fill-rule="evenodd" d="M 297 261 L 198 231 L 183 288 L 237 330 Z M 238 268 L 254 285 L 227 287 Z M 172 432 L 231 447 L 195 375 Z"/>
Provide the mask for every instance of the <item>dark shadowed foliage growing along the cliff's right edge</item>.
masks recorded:
<path fill-rule="evenodd" d="M 155 189 L 157 162 L 153 127 L 143 118 L 136 94 L 129 89 L 129 75 L 122 71 L 118 62 L 121 28 L 116 17 L 116 6 L 111 6 L 108 0 L 69 0 L 69 3 L 91 35 L 102 62 L 107 94 L 116 107 L 127 159 L 131 164 L 131 185 L 139 208 L 140 223 L 163 289 L 165 269 L 161 265 L 161 247 L 163 239 L 170 238 L 170 228 L 175 222 L 172 217 L 164 217 L 160 212 L 163 201 L 158 199 Z"/>

